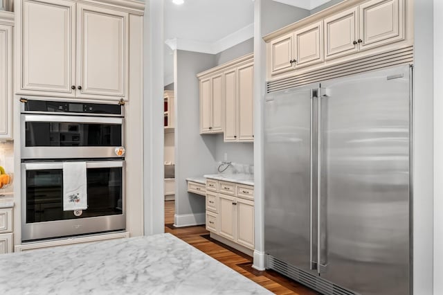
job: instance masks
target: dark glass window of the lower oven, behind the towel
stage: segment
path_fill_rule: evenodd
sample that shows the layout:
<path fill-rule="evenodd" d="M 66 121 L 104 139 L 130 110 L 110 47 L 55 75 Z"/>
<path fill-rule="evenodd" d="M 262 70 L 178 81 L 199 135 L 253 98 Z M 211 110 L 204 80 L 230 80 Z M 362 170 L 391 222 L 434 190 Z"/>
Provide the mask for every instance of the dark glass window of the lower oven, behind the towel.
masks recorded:
<path fill-rule="evenodd" d="M 63 170 L 27 170 L 26 223 L 123 214 L 121 167 L 88 168 L 87 191 L 87 210 L 63 211 Z"/>

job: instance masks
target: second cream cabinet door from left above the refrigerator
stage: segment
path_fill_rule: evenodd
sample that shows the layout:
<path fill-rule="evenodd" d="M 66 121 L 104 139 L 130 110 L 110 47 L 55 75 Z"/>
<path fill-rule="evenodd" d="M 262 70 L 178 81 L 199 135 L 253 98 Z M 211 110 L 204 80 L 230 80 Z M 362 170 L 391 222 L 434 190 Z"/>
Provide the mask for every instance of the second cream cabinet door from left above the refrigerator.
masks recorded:
<path fill-rule="evenodd" d="M 323 21 L 294 33 L 296 43 L 296 68 L 323 62 Z"/>

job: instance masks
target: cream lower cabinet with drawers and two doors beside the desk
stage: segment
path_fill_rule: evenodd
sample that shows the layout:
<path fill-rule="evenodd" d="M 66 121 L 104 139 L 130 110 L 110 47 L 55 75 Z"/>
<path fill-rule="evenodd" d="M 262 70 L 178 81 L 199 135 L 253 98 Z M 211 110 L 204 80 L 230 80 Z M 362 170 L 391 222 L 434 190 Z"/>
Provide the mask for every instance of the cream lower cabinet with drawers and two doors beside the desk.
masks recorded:
<path fill-rule="evenodd" d="M 206 229 L 246 249 L 253 250 L 253 187 L 219 181 L 217 185 L 219 190 L 213 192 L 208 190 L 208 184 L 213 184 L 213 180 L 208 181 L 206 182 Z M 223 190 L 225 186 L 226 189 Z M 233 194 L 225 193 L 231 191 Z"/>

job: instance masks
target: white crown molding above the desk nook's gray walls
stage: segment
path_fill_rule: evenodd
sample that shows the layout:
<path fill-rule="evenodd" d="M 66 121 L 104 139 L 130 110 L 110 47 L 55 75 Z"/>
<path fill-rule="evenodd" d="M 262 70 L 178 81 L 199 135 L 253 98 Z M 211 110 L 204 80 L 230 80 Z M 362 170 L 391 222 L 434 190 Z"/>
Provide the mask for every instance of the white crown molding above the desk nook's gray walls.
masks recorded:
<path fill-rule="evenodd" d="M 168 45 L 171 50 L 179 49 L 183 51 L 217 54 L 252 37 L 254 37 L 254 24 L 248 24 L 248 26 L 237 30 L 237 32 L 227 35 L 213 43 L 175 38 L 165 40 L 165 44 Z"/>

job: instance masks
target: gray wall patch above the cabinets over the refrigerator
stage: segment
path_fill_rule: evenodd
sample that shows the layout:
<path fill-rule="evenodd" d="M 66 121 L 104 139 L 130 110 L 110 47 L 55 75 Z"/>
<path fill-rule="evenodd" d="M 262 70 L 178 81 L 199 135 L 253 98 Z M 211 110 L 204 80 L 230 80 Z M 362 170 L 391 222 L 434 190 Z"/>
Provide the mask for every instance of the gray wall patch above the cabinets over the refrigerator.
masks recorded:
<path fill-rule="evenodd" d="M 262 1 L 261 10 L 262 36 L 309 17 L 309 10 L 271 0 Z"/>

